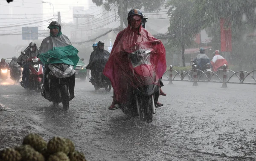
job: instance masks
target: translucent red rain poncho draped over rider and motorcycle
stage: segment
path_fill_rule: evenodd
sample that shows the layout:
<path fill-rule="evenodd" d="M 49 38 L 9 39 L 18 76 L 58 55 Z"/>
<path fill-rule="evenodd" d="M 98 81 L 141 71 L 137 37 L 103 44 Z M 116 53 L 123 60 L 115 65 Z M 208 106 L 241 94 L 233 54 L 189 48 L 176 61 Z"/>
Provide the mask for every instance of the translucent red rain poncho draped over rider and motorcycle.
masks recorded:
<path fill-rule="evenodd" d="M 166 71 L 166 51 L 163 43 L 154 38 L 147 30 L 140 26 L 140 30 L 133 30 L 128 25 L 123 31 L 116 36 L 110 57 L 105 69 L 104 75 L 107 76 L 112 83 L 115 98 L 117 102 L 125 102 L 126 96 L 131 88 L 137 88 L 140 83 L 134 83 L 134 68 L 128 54 L 136 51 L 138 48 L 150 49 L 150 62 L 155 70 L 157 79 L 160 79 Z M 136 68 L 145 71 L 145 65 Z M 152 79 L 153 80 L 153 79 Z M 152 82 L 158 84 L 158 82 Z"/>

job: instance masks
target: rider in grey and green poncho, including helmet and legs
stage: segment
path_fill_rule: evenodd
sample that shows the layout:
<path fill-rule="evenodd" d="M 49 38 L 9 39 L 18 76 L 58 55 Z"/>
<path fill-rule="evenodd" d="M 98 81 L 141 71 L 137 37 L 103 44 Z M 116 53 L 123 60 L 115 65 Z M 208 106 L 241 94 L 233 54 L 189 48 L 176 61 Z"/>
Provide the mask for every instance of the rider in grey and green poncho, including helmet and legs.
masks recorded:
<path fill-rule="evenodd" d="M 49 83 L 46 82 L 50 69 L 47 65 L 64 63 L 66 65 L 72 65 L 75 69 L 80 59 L 77 55 L 79 51 L 72 45 L 69 38 L 62 34 L 61 25 L 57 21 L 52 21 L 47 28 L 50 30 L 50 35 L 42 41 L 38 55 L 40 61 L 45 65 L 44 90 L 47 91 L 45 92 L 47 95 L 45 98 L 49 98 Z M 75 75 L 70 80 L 71 100 L 75 97 Z"/>

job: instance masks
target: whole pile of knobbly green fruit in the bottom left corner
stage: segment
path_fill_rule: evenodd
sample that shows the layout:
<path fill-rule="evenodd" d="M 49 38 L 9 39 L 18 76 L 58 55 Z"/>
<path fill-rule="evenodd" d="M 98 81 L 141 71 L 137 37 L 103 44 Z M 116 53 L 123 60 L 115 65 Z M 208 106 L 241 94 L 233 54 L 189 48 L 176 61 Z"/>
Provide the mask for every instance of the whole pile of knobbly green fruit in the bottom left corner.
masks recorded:
<path fill-rule="evenodd" d="M 53 137 L 47 143 L 35 133 L 23 139 L 19 147 L 0 151 L 0 161 L 86 161 L 68 138 Z"/>

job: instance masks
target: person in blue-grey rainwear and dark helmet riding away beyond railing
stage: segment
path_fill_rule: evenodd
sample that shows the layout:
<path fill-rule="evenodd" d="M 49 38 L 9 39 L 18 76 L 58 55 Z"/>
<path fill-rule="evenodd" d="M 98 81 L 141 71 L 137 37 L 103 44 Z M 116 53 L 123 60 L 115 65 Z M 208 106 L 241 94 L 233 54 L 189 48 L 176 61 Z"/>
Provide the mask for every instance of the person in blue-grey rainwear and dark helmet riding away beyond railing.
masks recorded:
<path fill-rule="evenodd" d="M 198 69 L 201 71 L 204 71 L 206 70 L 206 64 L 210 63 L 210 59 L 206 54 L 204 54 L 205 52 L 204 48 L 200 48 L 199 52 L 200 53 L 196 56 L 195 61 L 196 61 L 196 64 L 198 65 Z"/>

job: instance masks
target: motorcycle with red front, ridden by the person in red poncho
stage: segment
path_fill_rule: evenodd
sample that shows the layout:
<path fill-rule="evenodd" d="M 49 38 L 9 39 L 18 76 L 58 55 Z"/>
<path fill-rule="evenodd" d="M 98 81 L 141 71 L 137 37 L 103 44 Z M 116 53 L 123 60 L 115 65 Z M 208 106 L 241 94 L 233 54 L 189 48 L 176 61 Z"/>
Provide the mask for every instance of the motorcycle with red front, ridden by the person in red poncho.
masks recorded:
<path fill-rule="evenodd" d="M 140 116 L 142 121 L 153 121 L 160 92 L 159 78 L 154 65 L 150 62 L 151 50 L 139 49 L 128 54 L 133 67 L 131 88 L 128 88 L 128 101 L 119 104 L 118 108 L 132 117 Z M 135 85 L 135 86 L 134 86 Z M 135 88 L 137 87 L 137 88 Z"/>

